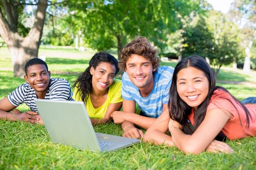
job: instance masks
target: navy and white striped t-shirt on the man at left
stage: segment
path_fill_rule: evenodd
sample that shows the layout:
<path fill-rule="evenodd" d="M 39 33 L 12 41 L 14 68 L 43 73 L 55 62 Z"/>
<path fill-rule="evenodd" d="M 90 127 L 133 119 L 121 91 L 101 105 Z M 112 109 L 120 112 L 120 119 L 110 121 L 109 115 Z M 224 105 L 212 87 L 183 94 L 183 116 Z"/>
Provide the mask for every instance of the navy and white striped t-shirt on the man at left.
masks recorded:
<path fill-rule="evenodd" d="M 45 99 L 52 100 L 74 100 L 72 99 L 70 83 L 65 79 L 51 78 Z M 7 96 L 13 106 L 19 106 L 22 103 L 27 104 L 31 111 L 38 112 L 34 99 L 37 99 L 36 92 L 29 83 L 18 86 L 11 94 Z"/>

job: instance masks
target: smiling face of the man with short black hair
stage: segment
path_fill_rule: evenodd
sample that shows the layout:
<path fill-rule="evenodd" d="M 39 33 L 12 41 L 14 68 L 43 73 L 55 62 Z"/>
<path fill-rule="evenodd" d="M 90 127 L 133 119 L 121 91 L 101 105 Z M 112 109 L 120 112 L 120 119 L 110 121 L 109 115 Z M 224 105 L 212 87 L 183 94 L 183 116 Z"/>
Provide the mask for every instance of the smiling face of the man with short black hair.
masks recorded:
<path fill-rule="evenodd" d="M 47 71 L 45 65 L 35 64 L 27 68 L 27 75 L 24 76 L 29 85 L 36 91 L 36 94 L 46 94 L 51 73 Z"/>

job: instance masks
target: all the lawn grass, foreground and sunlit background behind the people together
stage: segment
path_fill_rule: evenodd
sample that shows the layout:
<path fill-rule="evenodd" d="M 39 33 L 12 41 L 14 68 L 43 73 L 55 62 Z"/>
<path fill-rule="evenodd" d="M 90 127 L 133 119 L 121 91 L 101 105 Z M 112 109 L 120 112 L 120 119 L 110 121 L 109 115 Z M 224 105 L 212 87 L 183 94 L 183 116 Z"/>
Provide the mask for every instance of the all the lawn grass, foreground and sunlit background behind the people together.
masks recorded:
<path fill-rule="evenodd" d="M 6 51 L 7 48 L 0 49 L 0 68 L 6 68 L 6 70 L 0 71 L 0 99 L 25 82 L 24 79 L 13 77 L 11 60 Z M 48 54 L 46 62 L 49 65 L 49 70 L 52 71 L 52 77 L 63 77 L 73 84 L 77 74 L 88 66 L 94 52 L 40 49 L 40 53 Z M 57 54 L 61 57 L 57 57 Z M 175 64 L 175 62 L 169 61 L 162 63 L 162 65 L 171 66 L 175 66 Z M 256 82 L 255 75 L 255 71 L 248 75 L 241 70 L 232 71 L 230 68 L 223 68 L 218 80 Z M 240 100 L 256 96 L 256 84 L 254 83 L 249 85 L 228 84 L 227 82 L 217 84 L 227 88 Z M 25 111 L 28 110 L 28 107 L 22 104 L 18 109 Z M 94 129 L 96 132 L 122 135 L 121 126 L 112 122 L 95 126 Z M 184 154 L 174 147 L 155 146 L 143 142 L 116 152 L 95 153 L 52 143 L 42 125 L 0 120 L 0 170 L 255 170 L 256 137 L 227 141 L 227 144 L 234 149 L 233 154 L 203 152 L 200 155 L 190 155 Z"/>

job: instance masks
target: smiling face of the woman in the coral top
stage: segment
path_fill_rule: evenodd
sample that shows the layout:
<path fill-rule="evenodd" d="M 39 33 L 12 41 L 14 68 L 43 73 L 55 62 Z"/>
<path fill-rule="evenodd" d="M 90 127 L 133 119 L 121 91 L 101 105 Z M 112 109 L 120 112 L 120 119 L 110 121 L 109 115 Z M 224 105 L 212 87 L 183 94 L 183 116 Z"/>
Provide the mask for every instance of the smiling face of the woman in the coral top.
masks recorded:
<path fill-rule="evenodd" d="M 176 83 L 180 98 L 194 110 L 198 109 L 209 93 L 209 80 L 203 71 L 194 67 L 180 70 Z"/>

